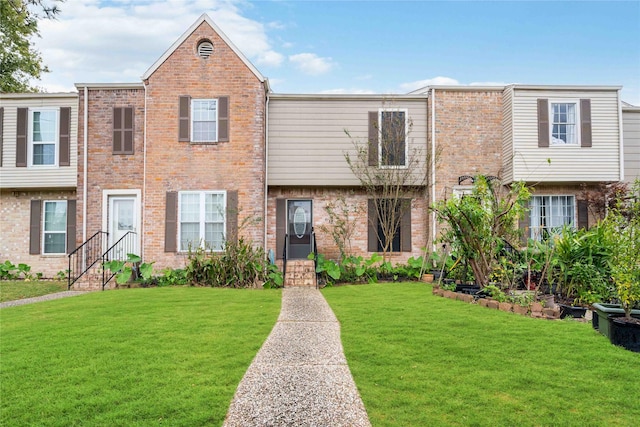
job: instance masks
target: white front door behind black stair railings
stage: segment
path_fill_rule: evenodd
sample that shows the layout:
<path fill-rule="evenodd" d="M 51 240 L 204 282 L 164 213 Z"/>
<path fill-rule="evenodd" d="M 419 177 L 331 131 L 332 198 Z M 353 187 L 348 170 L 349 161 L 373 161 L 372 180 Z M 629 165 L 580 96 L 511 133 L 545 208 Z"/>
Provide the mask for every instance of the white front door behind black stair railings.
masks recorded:
<path fill-rule="evenodd" d="M 137 233 L 136 204 L 136 196 L 109 197 L 109 247 L 119 242 L 127 232 Z M 126 259 L 129 253 L 139 255 L 138 235 L 130 234 L 114 249 L 112 259 Z"/>

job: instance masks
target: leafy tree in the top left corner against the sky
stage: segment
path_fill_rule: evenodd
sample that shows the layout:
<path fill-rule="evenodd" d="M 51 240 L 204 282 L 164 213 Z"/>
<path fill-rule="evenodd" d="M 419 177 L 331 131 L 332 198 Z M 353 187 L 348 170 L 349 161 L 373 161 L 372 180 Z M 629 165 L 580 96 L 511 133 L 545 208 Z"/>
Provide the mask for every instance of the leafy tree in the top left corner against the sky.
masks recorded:
<path fill-rule="evenodd" d="M 60 12 L 59 1 L 0 0 L 0 92 L 35 92 L 29 81 L 49 72 L 31 39 L 39 35 L 38 19 Z"/>

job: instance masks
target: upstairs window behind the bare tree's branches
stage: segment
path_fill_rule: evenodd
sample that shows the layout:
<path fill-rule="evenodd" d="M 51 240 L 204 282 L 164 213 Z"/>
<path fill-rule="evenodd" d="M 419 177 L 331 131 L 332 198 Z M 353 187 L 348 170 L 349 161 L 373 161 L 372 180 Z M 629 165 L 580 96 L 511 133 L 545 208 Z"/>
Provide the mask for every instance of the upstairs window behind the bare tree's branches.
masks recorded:
<path fill-rule="evenodd" d="M 406 166 L 407 144 L 406 110 L 380 110 L 380 153 L 379 164 L 382 167 Z"/>

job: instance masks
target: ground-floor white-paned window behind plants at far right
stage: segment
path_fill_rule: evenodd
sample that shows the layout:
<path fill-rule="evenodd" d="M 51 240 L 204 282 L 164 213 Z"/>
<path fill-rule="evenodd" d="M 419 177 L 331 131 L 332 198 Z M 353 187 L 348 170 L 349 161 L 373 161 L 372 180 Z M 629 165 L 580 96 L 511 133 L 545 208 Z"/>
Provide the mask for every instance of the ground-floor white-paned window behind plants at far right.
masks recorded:
<path fill-rule="evenodd" d="M 563 226 L 575 224 L 574 196 L 533 196 L 529 215 L 531 238 L 546 240 Z"/>

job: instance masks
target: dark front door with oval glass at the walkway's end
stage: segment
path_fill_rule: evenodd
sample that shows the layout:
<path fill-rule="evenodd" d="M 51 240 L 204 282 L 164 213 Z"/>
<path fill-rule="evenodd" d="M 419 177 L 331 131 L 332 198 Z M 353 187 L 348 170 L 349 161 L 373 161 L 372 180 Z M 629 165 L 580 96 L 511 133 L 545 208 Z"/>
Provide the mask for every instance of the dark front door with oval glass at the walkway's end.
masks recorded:
<path fill-rule="evenodd" d="M 287 258 L 306 259 L 312 252 L 311 220 L 311 200 L 287 201 Z"/>

